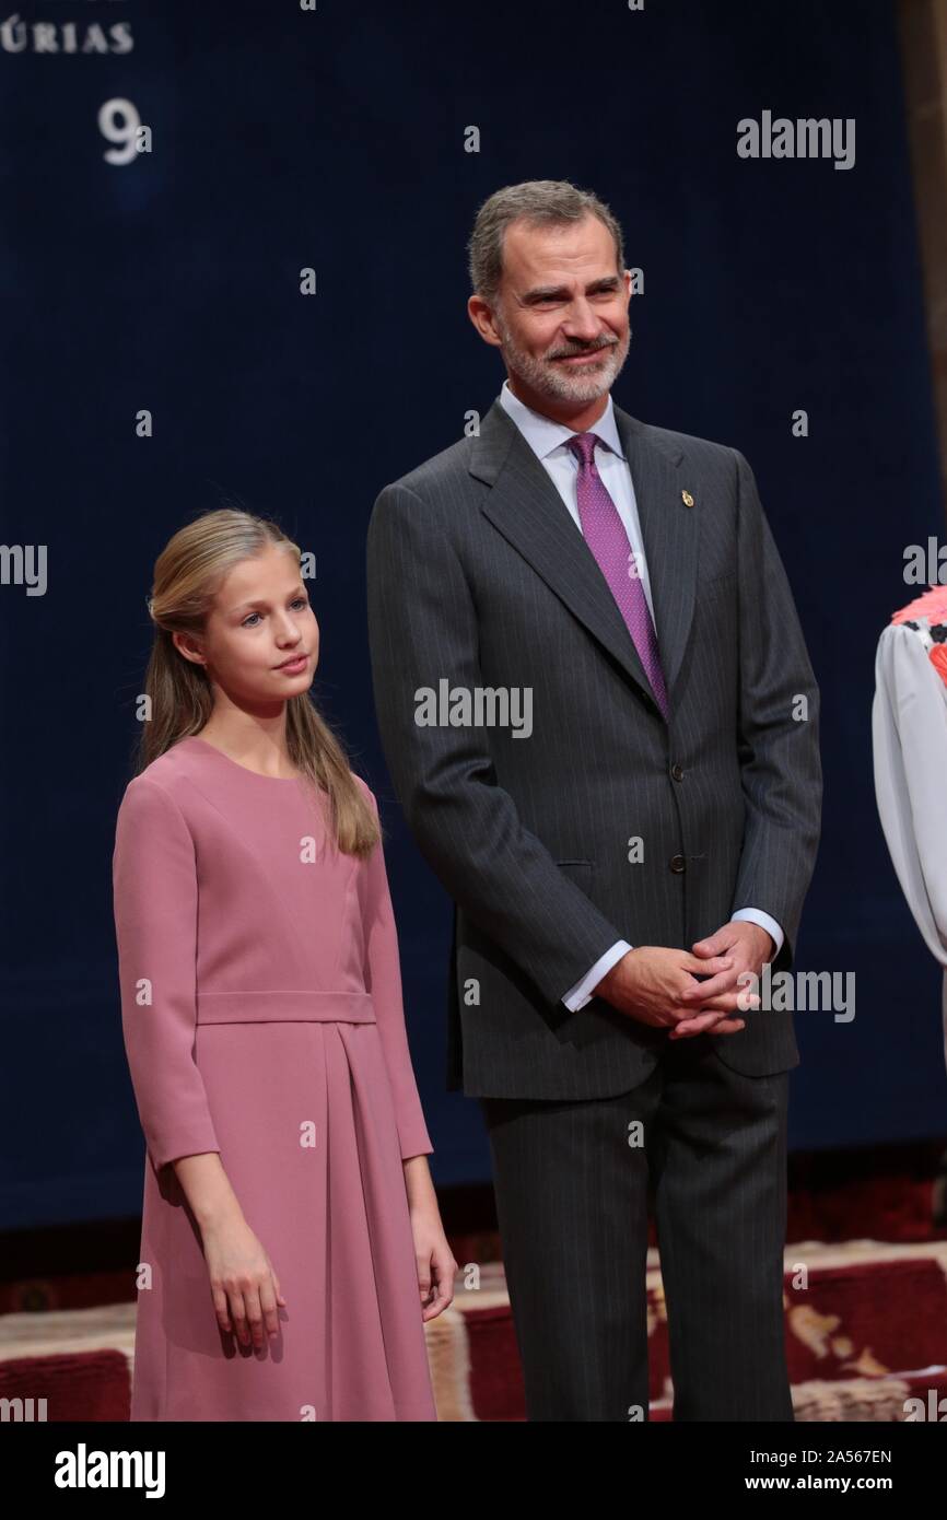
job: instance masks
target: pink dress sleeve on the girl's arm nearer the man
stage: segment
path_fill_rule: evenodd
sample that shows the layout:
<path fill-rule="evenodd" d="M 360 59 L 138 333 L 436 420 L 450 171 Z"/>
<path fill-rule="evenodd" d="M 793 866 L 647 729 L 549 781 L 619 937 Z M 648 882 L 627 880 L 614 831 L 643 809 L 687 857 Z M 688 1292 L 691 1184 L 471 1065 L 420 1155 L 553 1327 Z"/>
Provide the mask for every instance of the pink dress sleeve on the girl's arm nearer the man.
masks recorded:
<path fill-rule="evenodd" d="M 366 789 L 368 790 L 368 789 Z M 377 815 L 378 804 L 368 792 Z M 401 1160 L 412 1155 L 430 1155 L 430 1143 L 421 1099 L 410 1064 L 404 1006 L 401 1000 L 401 965 L 398 959 L 398 933 L 388 888 L 382 841 L 377 842 L 365 863 L 365 986 L 371 993 L 378 1038 L 385 1053 L 385 1066 L 395 1104 Z"/>

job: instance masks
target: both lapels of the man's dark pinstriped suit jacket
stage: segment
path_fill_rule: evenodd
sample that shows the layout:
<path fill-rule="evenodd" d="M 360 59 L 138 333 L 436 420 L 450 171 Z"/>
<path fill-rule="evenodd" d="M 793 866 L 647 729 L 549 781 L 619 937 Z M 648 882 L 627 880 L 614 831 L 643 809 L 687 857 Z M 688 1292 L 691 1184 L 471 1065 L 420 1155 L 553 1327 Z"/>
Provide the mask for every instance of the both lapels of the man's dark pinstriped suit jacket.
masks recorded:
<path fill-rule="evenodd" d="M 681 492 L 681 450 L 616 406 L 619 436 L 631 468 L 661 666 L 673 711 L 673 682 L 693 619 L 698 508 Z M 645 667 L 597 561 L 512 418 L 494 401 L 471 450 L 470 473 L 491 486 L 482 511 L 523 555 L 588 632 L 619 661 L 652 710 Z"/>

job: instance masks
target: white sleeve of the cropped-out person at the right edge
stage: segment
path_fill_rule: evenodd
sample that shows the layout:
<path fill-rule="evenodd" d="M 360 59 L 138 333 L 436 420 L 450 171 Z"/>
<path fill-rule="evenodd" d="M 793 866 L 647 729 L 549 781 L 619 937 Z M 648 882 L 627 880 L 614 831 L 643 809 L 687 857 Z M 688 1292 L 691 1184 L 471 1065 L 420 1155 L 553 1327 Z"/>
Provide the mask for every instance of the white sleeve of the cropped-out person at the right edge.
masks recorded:
<path fill-rule="evenodd" d="M 942 629 L 941 629 L 942 632 Z M 874 792 L 891 862 L 918 930 L 944 967 L 947 1062 L 947 687 L 932 666 L 930 628 L 891 623 L 874 660 Z"/>

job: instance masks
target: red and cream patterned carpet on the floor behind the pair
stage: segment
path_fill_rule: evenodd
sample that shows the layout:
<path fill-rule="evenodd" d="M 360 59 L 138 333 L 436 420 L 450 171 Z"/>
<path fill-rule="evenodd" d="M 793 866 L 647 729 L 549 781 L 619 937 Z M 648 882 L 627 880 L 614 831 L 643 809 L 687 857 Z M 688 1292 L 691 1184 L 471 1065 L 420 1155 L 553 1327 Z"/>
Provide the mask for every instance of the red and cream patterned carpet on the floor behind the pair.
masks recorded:
<path fill-rule="evenodd" d="M 784 1268 L 797 1420 L 903 1421 L 918 1408 L 929 1411 L 926 1418 L 936 1414 L 947 1395 L 947 1240 L 807 1240 L 786 1248 Z M 134 1303 L 0 1316 L 0 1397 L 33 1398 L 33 1418 L 44 1412 L 50 1421 L 128 1420 L 134 1325 Z M 673 1389 L 655 1249 L 648 1328 L 651 1418 L 669 1420 Z M 427 1325 L 427 1348 L 442 1421 L 524 1420 L 500 1263 L 461 1262 L 454 1301 Z M 921 1404 L 909 1404 L 912 1398 Z"/>

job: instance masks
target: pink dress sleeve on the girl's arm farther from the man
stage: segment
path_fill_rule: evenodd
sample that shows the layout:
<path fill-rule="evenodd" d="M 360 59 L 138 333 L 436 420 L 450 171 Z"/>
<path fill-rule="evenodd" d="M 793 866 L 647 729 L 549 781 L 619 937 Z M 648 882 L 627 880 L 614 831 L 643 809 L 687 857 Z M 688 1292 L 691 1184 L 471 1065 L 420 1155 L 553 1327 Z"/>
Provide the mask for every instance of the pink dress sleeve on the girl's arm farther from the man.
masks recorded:
<path fill-rule="evenodd" d="M 116 822 L 112 892 L 122 1029 L 155 1170 L 220 1151 L 195 1061 L 198 872 L 184 816 L 158 783 L 129 781 Z"/>

